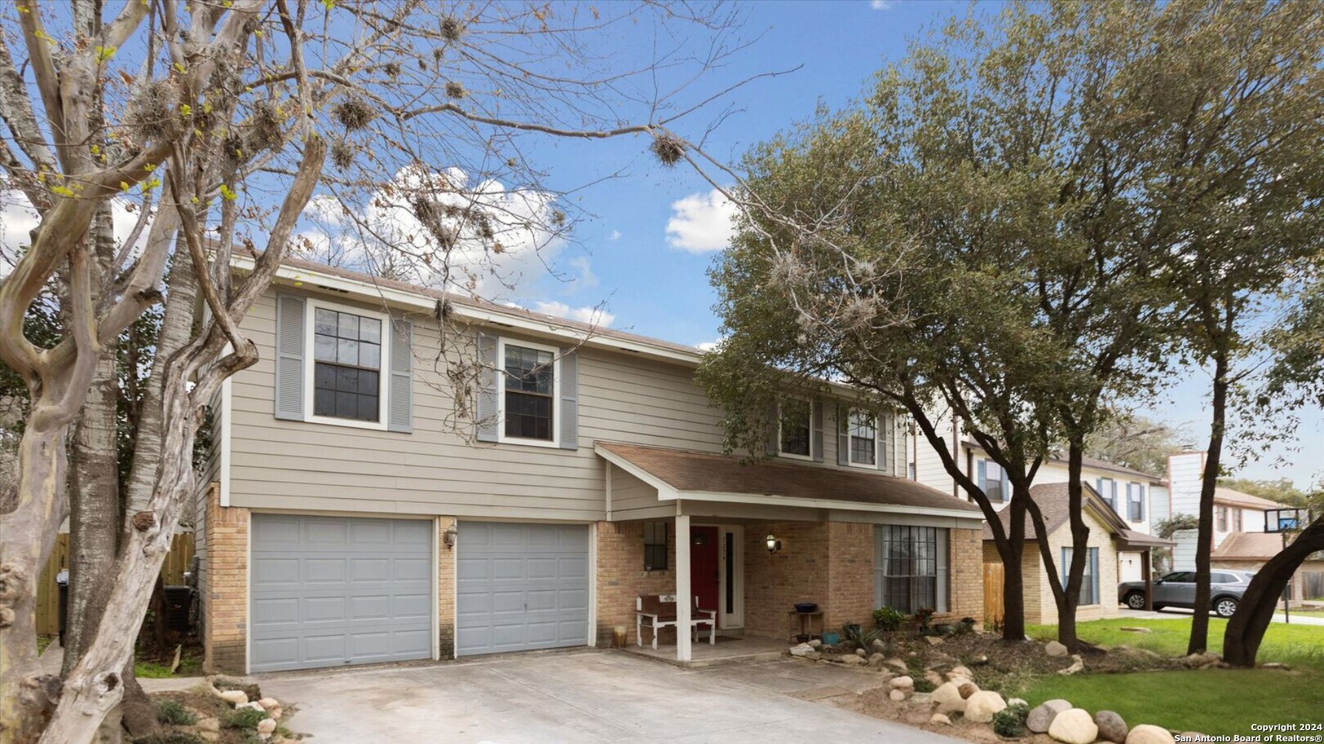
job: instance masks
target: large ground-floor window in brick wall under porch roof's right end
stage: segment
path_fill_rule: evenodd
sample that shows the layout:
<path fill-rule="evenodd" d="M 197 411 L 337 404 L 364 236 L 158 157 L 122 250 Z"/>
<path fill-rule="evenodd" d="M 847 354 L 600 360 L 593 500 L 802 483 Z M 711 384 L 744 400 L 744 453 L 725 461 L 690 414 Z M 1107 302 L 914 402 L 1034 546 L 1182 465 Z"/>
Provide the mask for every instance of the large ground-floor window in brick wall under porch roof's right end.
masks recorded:
<path fill-rule="evenodd" d="M 875 604 L 907 614 L 947 612 L 947 530 L 880 524 L 874 539 Z"/>

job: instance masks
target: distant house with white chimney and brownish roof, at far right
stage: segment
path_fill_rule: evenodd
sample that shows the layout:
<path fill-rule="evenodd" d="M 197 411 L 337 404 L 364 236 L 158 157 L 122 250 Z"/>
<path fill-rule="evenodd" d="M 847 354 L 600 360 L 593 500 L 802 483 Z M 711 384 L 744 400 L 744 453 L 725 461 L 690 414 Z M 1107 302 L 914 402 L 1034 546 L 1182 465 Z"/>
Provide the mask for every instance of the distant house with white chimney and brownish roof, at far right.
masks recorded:
<path fill-rule="evenodd" d="M 1172 512 L 1200 514 L 1201 475 L 1205 453 L 1184 451 L 1168 458 L 1168 478 L 1172 485 Z M 1266 532 L 1266 511 L 1291 508 L 1288 504 L 1243 494 L 1222 486 L 1214 488 L 1214 534 L 1210 544 L 1213 568 L 1258 571 L 1264 561 L 1283 549 L 1283 534 Z M 1196 569 L 1198 532 L 1182 530 L 1173 535 L 1173 568 Z M 1292 598 L 1324 596 L 1324 555 L 1315 555 L 1301 564 L 1291 581 Z"/>

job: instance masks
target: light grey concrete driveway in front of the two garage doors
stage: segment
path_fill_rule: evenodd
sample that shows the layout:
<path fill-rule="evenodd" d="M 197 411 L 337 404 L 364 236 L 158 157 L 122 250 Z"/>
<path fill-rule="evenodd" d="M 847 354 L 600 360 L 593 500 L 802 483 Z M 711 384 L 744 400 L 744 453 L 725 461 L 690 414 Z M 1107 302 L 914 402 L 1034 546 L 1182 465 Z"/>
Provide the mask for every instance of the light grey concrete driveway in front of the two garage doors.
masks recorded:
<path fill-rule="evenodd" d="M 812 702 L 876 687 L 878 675 L 789 659 L 685 670 L 576 650 L 258 682 L 298 707 L 290 728 L 315 744 L 957 741 Z"/>

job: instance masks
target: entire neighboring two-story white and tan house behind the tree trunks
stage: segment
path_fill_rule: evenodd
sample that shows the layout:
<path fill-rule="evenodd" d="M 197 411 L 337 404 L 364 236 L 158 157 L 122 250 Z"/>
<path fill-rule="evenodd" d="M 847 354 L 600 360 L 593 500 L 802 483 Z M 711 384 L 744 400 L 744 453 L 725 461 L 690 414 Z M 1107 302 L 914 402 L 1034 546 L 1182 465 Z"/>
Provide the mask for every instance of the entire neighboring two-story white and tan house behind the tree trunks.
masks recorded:
<path fill-rule="evenodd" d="M 945 418 L 939 429 L 945 434 L 944 447 L 961 471 L 989 496 L 992 506 L 1004 519 L 1009 531 L 1008 511 L 1012 498 L 1010 485 L 1001 466 L 977 442 L 963 436 L 959 425 Z M 911 433 L 907 445 L 908 473 L 912 478 L 947 492 L 965 498 L 943 466 L 939 453 L 929 442 Z M 1053 457 L 1039 465 L 1030 487 L 1030 495 L 1043 512 L 1049 530 L 1049 545 L 1059 579 L 1066 582 L 1066 567 L 1071 561 L 1072 540 L 1068 494 L 1066 483 L 1070 470 L 1066 459 Z M 1151 551 L 1172 547 L 1172 540 L 1151 535 L 1151 524 L 1168 515 L 1168 487 L 1149 473 L 1115 465 L 1096 458 L 1084 458 L 1080 470 L 1084 485 L 1083 519 L 1090 528 L 1084 577 L 1080 586 L 1079 620 L 1096 620 L 1119 614 L 1116 585 L 1121 581 L 1143 581 L 1152 577 Z M 1037 539 L 1033 524 L 1026 522 L 1026 539 Z M 984 561 L 1001 564 L 993 541 L 993 531 L 984 528 Z M 1025 577 L 1026 620 L 1034 624 L 1057 622 L 1057 602 L 1045 576 L 1045 561 L 1039 549 L 1027 543 L 1022 556 Z"/>

